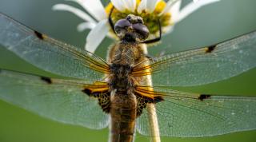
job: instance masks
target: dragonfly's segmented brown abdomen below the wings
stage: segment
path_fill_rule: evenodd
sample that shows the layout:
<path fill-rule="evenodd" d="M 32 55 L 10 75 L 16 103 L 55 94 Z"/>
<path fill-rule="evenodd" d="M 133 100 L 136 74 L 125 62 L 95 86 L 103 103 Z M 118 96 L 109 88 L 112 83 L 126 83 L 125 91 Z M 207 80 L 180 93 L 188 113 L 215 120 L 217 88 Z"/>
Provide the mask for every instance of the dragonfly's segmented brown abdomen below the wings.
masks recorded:
<path fill-rule="evenodd" d="M 111 116 L 111 142 L 132 142 L 135 132 L 135 119 L 137 101 L 133 93 L 112 91 L 110 116 Z"/>

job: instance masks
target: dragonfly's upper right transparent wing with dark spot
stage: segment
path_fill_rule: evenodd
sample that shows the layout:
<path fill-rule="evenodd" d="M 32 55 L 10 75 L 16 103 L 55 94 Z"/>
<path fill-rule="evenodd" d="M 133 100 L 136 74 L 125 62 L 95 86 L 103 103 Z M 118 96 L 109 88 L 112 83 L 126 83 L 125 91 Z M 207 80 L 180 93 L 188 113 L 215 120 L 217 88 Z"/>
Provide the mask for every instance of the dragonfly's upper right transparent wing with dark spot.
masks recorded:
<path fill-rule="evenodd" d="M 152 73 L 153 85 L 204 85 L 234 77 L 256 66 L 256 32 L 202 49 L 158 57 L 134 69 L 134 76 Z"/>

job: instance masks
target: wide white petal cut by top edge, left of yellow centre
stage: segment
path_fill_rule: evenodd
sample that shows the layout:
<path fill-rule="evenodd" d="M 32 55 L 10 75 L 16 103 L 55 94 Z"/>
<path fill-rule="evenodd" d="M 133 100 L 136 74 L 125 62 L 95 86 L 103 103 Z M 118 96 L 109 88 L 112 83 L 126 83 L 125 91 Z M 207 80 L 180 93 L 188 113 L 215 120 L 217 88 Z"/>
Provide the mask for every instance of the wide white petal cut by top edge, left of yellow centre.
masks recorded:
<path fill-rule="evenodd" d="M 102 2 L 100 0 L 67 0 L 67 1 L 77 2 L 98 21 L 101 21 L 102 19 L 107 18 L 104 6 L 102 5 Z"/>

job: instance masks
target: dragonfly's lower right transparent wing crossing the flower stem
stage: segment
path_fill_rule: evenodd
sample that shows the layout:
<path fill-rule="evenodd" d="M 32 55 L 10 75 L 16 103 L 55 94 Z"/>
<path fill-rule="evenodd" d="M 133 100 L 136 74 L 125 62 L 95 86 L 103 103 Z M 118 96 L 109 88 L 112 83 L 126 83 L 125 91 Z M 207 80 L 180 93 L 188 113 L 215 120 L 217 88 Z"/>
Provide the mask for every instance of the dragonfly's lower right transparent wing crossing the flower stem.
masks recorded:
<path fill-rule="evenodd" d="M 159 91 L 159 90 L 157 90 Z M 256 97 L 230 97 L 165 92 L 158 102 L 158 124 L 161 136 L 202 137 L 256 129 Z M 150 136 L 148 112 L 138 117 L 138 132 Z"/>

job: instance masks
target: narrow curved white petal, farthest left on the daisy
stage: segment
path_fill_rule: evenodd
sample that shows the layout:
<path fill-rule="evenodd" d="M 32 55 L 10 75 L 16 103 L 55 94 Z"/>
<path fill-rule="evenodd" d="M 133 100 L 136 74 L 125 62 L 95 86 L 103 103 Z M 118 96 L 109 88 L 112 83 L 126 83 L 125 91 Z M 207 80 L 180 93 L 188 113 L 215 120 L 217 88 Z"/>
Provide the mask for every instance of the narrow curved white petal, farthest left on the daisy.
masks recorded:
<path fill-rule="evenodd" d="M 52 10 L 63 10 L 63 11 L 69 11 L 75 15 L 77 15 L 79 18 L 82 18 L 86 22 L 96 23 L 93 18 L 91 18 L 88 14 L 83 12 L 82 10 L 79 10 L 77 8 L 74 8 L 73 6 L 68 6 L 66 4 L 57 4 L 52 7 Z"/>

